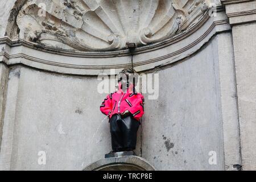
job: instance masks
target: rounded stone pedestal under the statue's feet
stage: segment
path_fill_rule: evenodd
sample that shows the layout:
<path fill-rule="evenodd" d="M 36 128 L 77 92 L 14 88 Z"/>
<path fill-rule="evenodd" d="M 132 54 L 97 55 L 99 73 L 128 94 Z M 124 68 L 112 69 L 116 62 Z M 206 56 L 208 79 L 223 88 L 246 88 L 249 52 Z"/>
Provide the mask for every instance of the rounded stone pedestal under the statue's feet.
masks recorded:
<path fill-rule="evenodd" d="M 154 166 L 133 151 L 106 154 L 105 159 L 87 166 L 84 171 L 155 171 Z"/>

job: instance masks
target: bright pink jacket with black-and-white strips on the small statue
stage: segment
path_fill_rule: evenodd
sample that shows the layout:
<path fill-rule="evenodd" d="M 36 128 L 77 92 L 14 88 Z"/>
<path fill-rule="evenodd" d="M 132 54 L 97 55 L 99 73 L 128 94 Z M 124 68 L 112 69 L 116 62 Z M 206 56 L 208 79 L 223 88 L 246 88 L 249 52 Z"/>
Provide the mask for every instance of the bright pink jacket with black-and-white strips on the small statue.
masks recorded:
<path fill-rule="evenodd" d="M 103 114 L 108 115 L 109 118 L 113 114 L 123 113 L 129 110 L 133 114 L 134 118 L 139 119 L 144 114 L 144 97 L 141 93 L 133 92 L 133 85 L 129 86 L 127 92 L 124 93 L 121 89 L 121 83 L 119 83 L 119 89 L 117 92 L 110 93 L 100 106 L 100 110 Z"/>

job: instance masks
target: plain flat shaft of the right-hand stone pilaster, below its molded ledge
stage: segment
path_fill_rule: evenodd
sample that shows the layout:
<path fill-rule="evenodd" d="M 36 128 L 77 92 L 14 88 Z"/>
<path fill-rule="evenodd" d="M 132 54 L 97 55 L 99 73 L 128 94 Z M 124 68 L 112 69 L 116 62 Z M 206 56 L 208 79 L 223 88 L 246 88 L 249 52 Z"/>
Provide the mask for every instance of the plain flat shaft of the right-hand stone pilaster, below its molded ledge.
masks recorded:
<path fill-rule="evenodd" d="M 233 27 L 243 169 L 256 169 L 256 23 Z"/>

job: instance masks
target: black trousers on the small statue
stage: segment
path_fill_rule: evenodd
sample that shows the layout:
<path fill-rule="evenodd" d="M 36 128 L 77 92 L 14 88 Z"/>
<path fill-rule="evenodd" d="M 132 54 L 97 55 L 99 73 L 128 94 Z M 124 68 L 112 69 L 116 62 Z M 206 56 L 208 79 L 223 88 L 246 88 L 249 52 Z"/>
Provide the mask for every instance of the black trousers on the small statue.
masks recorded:
<path fill-rule="evenodd" d="M 122 118 L 115 114 L 110 118 L 112 150 L 114 152 L 131 151 L 136 148 L 139 122 L 133 115 Z"/>

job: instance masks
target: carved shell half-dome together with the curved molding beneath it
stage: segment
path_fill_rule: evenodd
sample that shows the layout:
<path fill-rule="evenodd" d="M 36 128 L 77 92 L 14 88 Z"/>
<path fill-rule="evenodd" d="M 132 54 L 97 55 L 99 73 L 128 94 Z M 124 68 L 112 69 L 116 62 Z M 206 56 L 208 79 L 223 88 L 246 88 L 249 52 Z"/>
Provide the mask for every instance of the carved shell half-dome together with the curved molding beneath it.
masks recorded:
<path fill-rule="evenodd" d="M 110 74 L 131 67 L 127 44 L 135 43 L 134 68 L 146 71 L 184 59 L 226 29 L 215 28 L 224 26 L 222 16 L 209 19 L 212 1 L 17 1 L 3 60 L 73 75 Z"/>

